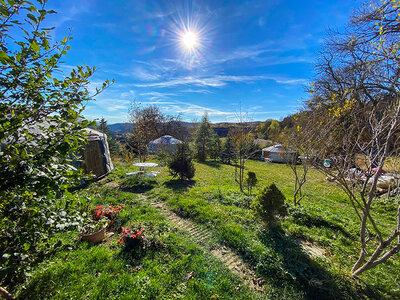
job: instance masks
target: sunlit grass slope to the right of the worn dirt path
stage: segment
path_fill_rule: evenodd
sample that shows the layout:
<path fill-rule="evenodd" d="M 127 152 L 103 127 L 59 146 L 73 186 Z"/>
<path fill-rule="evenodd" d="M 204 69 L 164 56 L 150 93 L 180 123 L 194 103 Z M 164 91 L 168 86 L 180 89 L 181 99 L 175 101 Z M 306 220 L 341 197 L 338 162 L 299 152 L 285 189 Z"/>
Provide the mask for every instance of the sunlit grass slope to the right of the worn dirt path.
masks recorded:
<path fill-rule="evenodd" d="M 258 188 L 275 182 L 287 199 L 292 198 L 289 167 L 257 161 L 246 166 L 257 173 Z M 358 255 L 358 222 L 344 193 L 320 173 L 310 171 L 301 208 L 289 208 L 290 215 L 271 230 L 260 228 L 254 219 L 248 208 L 251 199 L 238 193 L 234 174 L 232 166 L 197 163 L 193 182 L 185 186 L 164 174 L 163 183 L 150 193 L 166 200 L 177 213 L 206 224 L 220 242 L 237 249 L 265 278 L 271 296 L 400 296 L 399 254 L 357 282 L 350 278 Z M 379 201 L 375 210 L 378 223 L 387 232 L 395 224 L 396 210 L 384 202 Z M 301 251 L 299 238 L 322 246 L 326 257 L 310 259 Z"/>

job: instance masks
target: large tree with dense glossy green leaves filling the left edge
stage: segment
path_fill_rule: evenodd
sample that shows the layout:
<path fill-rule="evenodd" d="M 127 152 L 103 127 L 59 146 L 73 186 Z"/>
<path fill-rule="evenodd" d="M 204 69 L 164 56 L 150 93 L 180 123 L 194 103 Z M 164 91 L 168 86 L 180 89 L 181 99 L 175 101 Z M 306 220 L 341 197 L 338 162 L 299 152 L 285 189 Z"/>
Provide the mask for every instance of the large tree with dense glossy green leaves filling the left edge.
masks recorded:
<path fill-rule="evenodd" d="M 49 251 L 39 245 L 54 230 L 49 220 L 57 199 L 80 178 L 70 164 L 85 142 L 89 123 L 81 113 L 93 96 L 86 87 L 94 68 L 55 75 L 72 37 L 51 41 L 51 29 L 42 25 L 54 13 L 46 2 L 0 1 L 0 280 L 6 285 Z"/>

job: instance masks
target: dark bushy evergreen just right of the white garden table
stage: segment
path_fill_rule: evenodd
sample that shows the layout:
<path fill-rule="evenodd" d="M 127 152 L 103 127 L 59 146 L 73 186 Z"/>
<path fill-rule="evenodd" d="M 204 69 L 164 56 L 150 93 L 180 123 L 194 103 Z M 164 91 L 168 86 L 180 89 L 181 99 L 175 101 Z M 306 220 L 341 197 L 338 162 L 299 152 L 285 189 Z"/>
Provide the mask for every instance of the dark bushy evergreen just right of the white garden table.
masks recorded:
<path fill-rule="evenodd" d="M 192 151 L 186 143 L 178 144 L 171 159 L 168 161 L 168 168 L 173 177 L 179 176 L 181 180 L 192 179 L 195 168 L 192 161 Z"/>

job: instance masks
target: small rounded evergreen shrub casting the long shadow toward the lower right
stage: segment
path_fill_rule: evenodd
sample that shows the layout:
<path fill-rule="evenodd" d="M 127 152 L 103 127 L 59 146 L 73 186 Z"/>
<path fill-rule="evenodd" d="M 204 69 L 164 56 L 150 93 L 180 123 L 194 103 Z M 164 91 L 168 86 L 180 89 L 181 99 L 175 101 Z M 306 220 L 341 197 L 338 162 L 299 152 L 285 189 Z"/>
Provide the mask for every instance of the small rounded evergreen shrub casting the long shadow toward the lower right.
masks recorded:
<path fill-rule="evenodd" d="M 285 196 L 274 183 L 266 186 L 251 204 L 256 215 L 266 224 L 272 224 L 276 215 L 285 215 Z"/>

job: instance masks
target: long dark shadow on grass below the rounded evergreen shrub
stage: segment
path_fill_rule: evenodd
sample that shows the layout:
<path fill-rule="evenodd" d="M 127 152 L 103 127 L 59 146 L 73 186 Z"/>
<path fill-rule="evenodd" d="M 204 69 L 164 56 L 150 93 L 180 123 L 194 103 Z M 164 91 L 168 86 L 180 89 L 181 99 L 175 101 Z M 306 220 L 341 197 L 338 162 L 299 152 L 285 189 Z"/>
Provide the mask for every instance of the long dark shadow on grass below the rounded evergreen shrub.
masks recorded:
<path fill-rule="evenodd" d="M 360 295 L 373 299 L 380 298 L 380 295 L 371 288 L 360 290 L 352 284 L 350 278 L 344 276 L 334 278 L 303 252 L 299 242 L 288 236 L 280 225 L 263 230 L 260 233 L 260 240 L 282 257 L 282 270 L 277 270 L 277 273 L 283 271 L 284 275 L 274 276 L 272 281 L 277 287 L 286 285 L 301 290 L 306 299 L 359 299 Z M 268 265 L 262 265 L 260 271 L 264 274 L 275 272 Z"/>

